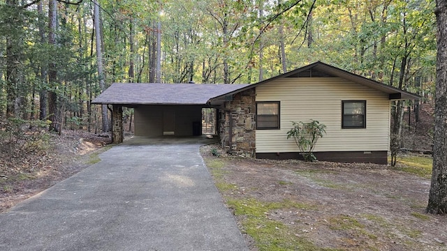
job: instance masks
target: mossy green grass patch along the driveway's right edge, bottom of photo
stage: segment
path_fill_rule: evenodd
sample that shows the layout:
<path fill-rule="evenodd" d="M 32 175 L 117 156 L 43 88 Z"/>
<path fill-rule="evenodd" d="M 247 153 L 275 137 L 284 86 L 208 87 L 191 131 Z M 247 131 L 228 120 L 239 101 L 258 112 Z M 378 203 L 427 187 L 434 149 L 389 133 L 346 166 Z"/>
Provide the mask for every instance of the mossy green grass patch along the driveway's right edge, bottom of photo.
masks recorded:
<path fill-rule="evenodd" d="M 277 220 L 270 220 L 267 213 L 277 209 L 316 209 L 312 205 L 284 200 L 263 202 L 256 199 L 228 199 L 227 204 L 233 208 L 235 215 L 243 215 L 243 231 L 256 241 L 260 250 L 335 250 L 320 248 L 305 237 L 295 234 L 291 227 Z"/>

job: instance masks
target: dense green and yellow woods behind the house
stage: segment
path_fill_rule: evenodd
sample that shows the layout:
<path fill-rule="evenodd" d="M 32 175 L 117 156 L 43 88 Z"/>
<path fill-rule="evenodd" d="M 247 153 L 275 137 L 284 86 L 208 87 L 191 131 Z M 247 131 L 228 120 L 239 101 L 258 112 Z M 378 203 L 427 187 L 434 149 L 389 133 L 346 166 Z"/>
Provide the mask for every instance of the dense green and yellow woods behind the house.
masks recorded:
<path fill-rule="evenodd" d="M 55 131 L 108 131 L 107 107 L 101 114 L 90 104 L 112 82 L 250 84 L 314 61 L 430 100 L 434 7 L 428 0 L 0 0 L 0 116 L 50 120 Z M 397 139 L 402 107 L 417 119 L 418 105 L 393 105 Z"/>

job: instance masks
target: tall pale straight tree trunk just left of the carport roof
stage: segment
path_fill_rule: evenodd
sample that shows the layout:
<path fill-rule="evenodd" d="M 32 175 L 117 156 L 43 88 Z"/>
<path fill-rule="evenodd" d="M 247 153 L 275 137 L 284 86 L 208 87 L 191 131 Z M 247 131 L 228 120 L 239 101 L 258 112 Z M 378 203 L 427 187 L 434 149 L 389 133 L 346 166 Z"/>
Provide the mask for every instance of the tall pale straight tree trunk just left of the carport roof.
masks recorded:
<path fill-rule="evenodd" d="M 99 88 L 101 91 L 105 90 L 104 82 L 104 71 L 103 71 L 103 52 L 101 49 L 101 25 L 99 20 L 99 6 L 97 1 L 94 1 L 94 26 L 95 26 L 95 37 L 96 37 L 96 61 L 98 63 L 98 78 L 99 78 Z M 110 129 L 108 109 L 107 105 L 101 105 L 101 116 L 103 121 L 103 132 L 108 132 Z"/>

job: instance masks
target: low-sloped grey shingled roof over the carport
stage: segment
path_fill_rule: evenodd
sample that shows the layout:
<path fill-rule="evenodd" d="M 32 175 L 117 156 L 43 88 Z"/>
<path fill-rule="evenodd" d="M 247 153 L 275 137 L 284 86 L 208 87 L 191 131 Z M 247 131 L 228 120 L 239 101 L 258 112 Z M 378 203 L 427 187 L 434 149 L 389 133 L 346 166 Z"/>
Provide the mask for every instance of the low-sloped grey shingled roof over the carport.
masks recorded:
<path fill-rule="evenodd" d="M 248 84 L 112 84 L 93 100 L 104 105 L 205 105 Z"/>

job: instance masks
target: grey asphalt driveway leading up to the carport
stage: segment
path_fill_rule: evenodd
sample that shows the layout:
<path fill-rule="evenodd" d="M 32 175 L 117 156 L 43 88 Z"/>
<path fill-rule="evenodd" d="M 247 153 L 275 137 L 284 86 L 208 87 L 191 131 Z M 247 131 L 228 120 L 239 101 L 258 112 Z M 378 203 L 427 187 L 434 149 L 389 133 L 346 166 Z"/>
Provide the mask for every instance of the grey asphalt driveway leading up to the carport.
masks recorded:
<path fill-rule="evenodd" d="M 248 250 L 198 142 L 121 144 L 0 214 L 0 250 Z"/>

